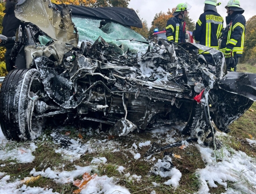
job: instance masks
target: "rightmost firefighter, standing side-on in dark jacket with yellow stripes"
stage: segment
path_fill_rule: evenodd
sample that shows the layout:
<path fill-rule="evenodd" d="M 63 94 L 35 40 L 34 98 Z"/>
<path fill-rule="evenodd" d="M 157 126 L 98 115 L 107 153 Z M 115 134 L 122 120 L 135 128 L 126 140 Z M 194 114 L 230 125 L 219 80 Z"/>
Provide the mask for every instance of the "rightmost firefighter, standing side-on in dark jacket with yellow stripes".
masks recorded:
<path fill-rule="evenodd" d="M 236 71 L 238 59 L 243 56 L 245 41 L 244 9 L 240 8 L 239 0 L 230 0 L 225 6 L 227 9 L 226 28 L 220 45 L 224 53 L 228 71 Z"/>

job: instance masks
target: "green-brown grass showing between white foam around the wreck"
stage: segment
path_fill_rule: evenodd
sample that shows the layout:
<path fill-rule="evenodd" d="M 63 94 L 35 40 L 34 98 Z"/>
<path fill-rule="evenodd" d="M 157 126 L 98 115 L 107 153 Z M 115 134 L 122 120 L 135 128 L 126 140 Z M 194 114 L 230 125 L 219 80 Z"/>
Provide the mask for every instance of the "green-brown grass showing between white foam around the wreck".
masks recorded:
<path fill-rule="evenodd" d="M 256 73 L 256 67 L 250 66 L 248 64 L 239 64 L 238 71 L 247 71 L 251 73 Z M 223 142 L 225 146 L 230 147 L 230 149 L 241 150 L 245 152 L 247 155 L 255 157 L 256 150 L 252 146 L 248 144 L 246 138 L 252 139 L 256 138 L 256 103 L 254 103 L 250 110 L 248 110 L 242 117 L 238 120 L 234 121 L 233 124 L 230 125 L 231 132 L 229 133 L 229 137 L 223 138 Z M 66 131 L 70 131 L 70 136 L 72 138 L 77 138 L 80 133 L 84 136 L 83 142 L 87 142 L 93 139 L 103 140 L 108 139 L 108 136 L 99 136 L 99 134 L 95 133 L 93 136 L 87 136 L 86 132 L 79 129 L 74 129 L 73 127 L 67 127 Z M 51 131 L 46 131 L 46 134 L 49 135 Z M 65 131 L 63 132 L 65 133 Z M 177 133 L 179 134 L 179 133 Z M 133 133 L 133 136 L 129 138 L 115 138 L 112 141 L 119 143 L 121 151 L 119 152 L 110 152 L 110 150 L 98 150 L 95 153 L 86 153 L 80 157 L 79 160 L 71 163 L 70 161 L 64 161 L 63 157 L 60 154 L 56 154 L 54 152 L 55 145 L 51 142 L 51 140 L 37 141 L 38 148 L 33 153 L 36 156 L 36 159 L 32 163 L 19 164 L 16 161 L 0 161 L 0 163 L 5 163 L 4 167 L 0 167 L 0 172 L 8 173 L 11 175 L 10 181 L 15 181 L 17 177 L 23 179 L 24 177 L 31 176 L 30 171 L 35 168 L 36 171 L 45 170 L 46 168 L 59 168 L 62 170 L 63 164 L 65 164 L 64 170 L 74 170 L 74 165 L 78 166 L 88 166 L 91 165 L 91 160 L 93 157 L 106 157 L 107 163 L 100 164 L 98 170 L 93 171 L 92 173 L 96 173 L 99 176 L 107 175 L 108 177 L 114 177 L 114 181 L 116 184 L 120 184 L 125 186 L 131 193 L 142 193 L 149 194 L 153 190 L 156 191 L 157 194 L 162 193 L 194 193 L 197 192 L 200 187 L 200 182 L 198 180 L 196 170 L 205 167 L 205 163 L 201 159 L 201 155 L 198 152 L 198 149 L 194 146 L 189 146 L 185 150 L 179 148 L 171 148 L 167 149 L 167 152 L 174 153 L 176 155 L 180 155 L 182 159 L 172 159 L 172 163 L 175 167 L 181 171 L 182 178 L 179 181 L 179 187 L 174 190 L 171 186 L 163 184 L 169 178 L 162 178 L 160 176 L 155 176 L 153 174 L 149 174 L 150 168 L 154 166 L 157 159 L 163 158 L 163 152 L 160 154 L 154 155 L 155 161 L 145 161 L 143 159 L 143 155 L 147 152 L 149 146 L 142 147 L 138 150 L 141 154 L 141 158 L 135 160 L 133 155 L 129 152 L 129 148 L 132 147 L 133 143 L 142 142 L 151 140 L 153 143 L 157 139 L 150 139 L 149 134 L 147 132 L 144 133 Z M 50 139 L 50 138 L 49 138 Z M 24 143 L 25 145 L 26 143 Z M 4 149 L 12 149 L 19 146 L 18 143 L 13 142 L 9 145 L 5 146 Z M 1 147 L 1 145 L 0 145 Z M 3 149 L 3 147 L 1 148 Z M 221 160 L 221 150 L 219 151 L 219 158 Z M 10 164 L 10 162 L 16 162 L 15 164 Z M 119 166 L 123 166 L 124 172 L 119 173 L 117 168 Z M 141 176 L 141 181 L 137 182 L 135 179 L 130 179 L 124 176 L 124 174 L 130 173 L 131 175 L 136 174 L 137 176 Z M 243 172 L 241 174 L 241 179 L 243 179 Z M 81 177 L 77 177 L 81 179 Z M 157 187 L 154 187 L 152 182 L 160 184 Z M 217 184 L 217 183 L 216 183 Z M 251 186 L 250 183 L 247 183 L 248 186 Z M 222 185 L 217 184 L 217 188 L 210 188 L 210 193 L 225 193 L 225 188 Z M 232 187 L 234 183 L 227 182 L 228 187 Z M 40 177 L 37 181 L 31 182 L 28 186 L 40 186 L 41 188 L 52 188 L 53 191 L 59 193 L 72 193 L 73 190 L 77 189 L 76 186 L 72 184 L 57 184 L 52 179 Z M 253 191 L 253 189 L 252 189 Z"/>

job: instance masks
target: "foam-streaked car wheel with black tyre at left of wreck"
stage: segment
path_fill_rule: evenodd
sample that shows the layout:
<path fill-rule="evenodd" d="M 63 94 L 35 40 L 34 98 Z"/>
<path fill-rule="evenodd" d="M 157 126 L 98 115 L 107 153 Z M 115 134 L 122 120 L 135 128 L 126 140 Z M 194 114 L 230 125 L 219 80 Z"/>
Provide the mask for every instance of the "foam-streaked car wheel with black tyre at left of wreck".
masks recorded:
<path fill-rule="evenodd" d="M 9 140 L 33 140 L 40 136 L 44 119 L 33 117 L 34 105 L 43 91 L 36 69 L 12 70 L 0 91 L 0 124 Z"/>

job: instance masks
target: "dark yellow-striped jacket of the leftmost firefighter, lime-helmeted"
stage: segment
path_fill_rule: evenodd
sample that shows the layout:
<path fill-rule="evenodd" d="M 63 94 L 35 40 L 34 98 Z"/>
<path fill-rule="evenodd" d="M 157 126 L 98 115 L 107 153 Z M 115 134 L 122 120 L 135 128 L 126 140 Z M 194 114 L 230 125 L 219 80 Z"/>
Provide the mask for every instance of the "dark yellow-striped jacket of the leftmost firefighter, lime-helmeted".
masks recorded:
<path fill-rule="evenodd" d="M 176 43 L 185 42 L 186 23 L 178 16 L 171 17 L 167 21 L 166 25 L 166 37 L 167 40 L 174 41 Z"/>

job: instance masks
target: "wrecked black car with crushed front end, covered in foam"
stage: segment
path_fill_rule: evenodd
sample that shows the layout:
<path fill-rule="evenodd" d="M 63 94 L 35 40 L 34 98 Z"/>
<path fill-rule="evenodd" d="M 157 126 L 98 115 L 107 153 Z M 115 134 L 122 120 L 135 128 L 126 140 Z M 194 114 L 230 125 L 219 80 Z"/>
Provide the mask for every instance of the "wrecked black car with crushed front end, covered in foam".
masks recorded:
<path fill-rule="evenodd" d="M 130 28 L 142 27 L 131 9 L 20 0 L 15 14 L 26 25 L 0 93 L 7 139 L 36 139 L 52 121 L 99 123 L 119 136 L 170 124 L 202 143 L 214 127 L 228 132 L 256 100 L 254 74 L 224 76 L 216 49 L 147 40 Z"/>

